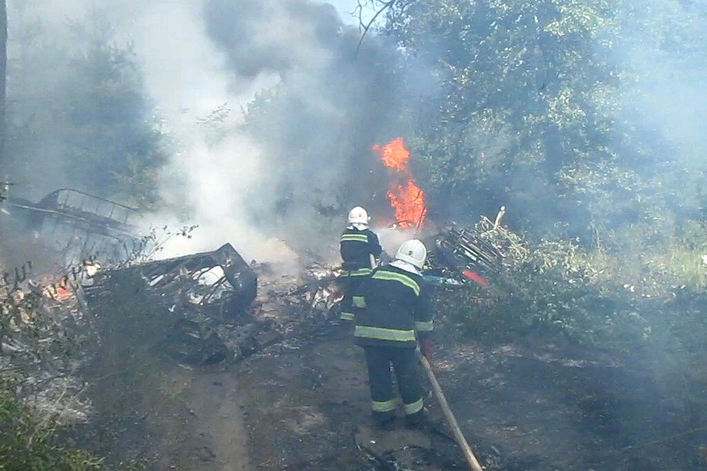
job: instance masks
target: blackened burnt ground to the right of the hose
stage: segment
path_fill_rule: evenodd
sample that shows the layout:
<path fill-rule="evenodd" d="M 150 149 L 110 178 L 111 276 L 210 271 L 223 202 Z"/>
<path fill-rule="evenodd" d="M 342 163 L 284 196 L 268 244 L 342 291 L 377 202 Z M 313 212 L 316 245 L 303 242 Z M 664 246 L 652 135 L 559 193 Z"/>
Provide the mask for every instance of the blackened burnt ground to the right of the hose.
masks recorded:
<path fill-rule="evenodd" d="M 445 352 L 442 361 L 454 366 L 440 381 L 492 469 L 705 467 L 706 414 L 687 391 L 658 382 L 638 361 L 577 353 L 473 345 Z"/>

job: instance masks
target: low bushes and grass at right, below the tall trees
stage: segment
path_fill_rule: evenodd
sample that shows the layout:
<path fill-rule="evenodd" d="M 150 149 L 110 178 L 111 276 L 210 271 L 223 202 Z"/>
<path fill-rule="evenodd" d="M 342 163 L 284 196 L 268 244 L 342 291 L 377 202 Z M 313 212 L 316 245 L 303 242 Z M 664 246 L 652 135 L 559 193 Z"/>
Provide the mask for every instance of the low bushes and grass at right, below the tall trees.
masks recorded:
<path fill-rule="evenodd" d="M 504 229 L 486 231 L 506 253 L 506 269 L 492 279 L 496 301 L 479 305 L 474 291 L 441 297 L 464 336 L 509 336 L 631 351 L 662 345 L 682 355 L 703 354 L 707 320 L 707 229 L 692 226 L 674 249 L 646 252 L 645 234 L 621 251 L 587 250 L 576 241 L 532 243 Z"/>

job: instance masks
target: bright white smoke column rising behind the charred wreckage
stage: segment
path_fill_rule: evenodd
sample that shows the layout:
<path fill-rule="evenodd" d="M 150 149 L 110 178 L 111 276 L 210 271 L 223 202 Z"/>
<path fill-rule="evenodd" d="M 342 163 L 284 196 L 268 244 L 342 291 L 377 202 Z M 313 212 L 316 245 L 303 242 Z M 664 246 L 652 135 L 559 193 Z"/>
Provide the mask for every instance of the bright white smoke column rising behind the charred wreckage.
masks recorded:
<path fill-rule="evenodd" d="M 230 132 L 214 142 L 209 128 L 199 124 L 221 105 L 240 109 L 255 92 L 274 85 L 276 77 L 254 77 L 233 93 L 224 54 L 206 36 L 201 2 L 159 0 L 136 8 L 125 35 L 144 71 L 148 94 L 163 116 L 177 149 L 160 179 L 169 209 L 148 216 L 155 225 L 197 223 L 192 238 L 172 238 L 160 256 L 214 250 L 230 242 L 246 257 L 258 260 L 291 258 L 283 244 L 268 240 L 247 223 L 245 192 L 257 185 L 260 150 L 238 131 L 240 115 L 227 115 L 222 126 Z M 184 208 L 190 218 L 177 221 L 172 211 Z"/>

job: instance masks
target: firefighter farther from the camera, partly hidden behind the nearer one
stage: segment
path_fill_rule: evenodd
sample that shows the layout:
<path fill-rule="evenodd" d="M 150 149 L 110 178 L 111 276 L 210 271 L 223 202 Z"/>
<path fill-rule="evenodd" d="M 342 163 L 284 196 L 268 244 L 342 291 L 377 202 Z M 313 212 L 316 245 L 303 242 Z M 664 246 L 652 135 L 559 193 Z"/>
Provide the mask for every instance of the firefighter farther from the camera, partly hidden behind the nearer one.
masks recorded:
<path fill-rule="evenodd" d="M 344 289 L 344 300 L 341 301 L 341 319 L 354 320 L 356 308 L 352 301 L 354 291 L 358 289 L 361 280 L 373 271 L 373 259 L 380 257 L 382 248 L 378 236 L 368 228 L 369 221 L 366 209 L 355 207 L 349 211 L 349 225 L 341 234 L 341 258 L 344 260 L 344 270 L 341 272 L 341 286 Z"/>

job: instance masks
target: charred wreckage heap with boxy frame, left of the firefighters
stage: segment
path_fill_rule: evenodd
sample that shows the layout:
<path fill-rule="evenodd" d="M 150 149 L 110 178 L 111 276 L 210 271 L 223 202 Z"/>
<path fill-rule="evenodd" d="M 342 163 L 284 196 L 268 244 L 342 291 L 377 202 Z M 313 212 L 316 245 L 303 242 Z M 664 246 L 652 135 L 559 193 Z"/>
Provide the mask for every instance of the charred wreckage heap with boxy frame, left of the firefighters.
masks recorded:
<path fill-rule="evenodd" d="M 226 244 L 214 252 L 99 272 L 82 291 L 96 318 L 121 301 L 125 277 L 139 279 L 136 295 L 170 326 L 156 335 L 160 351 L 185 364 L 216 364 L 238 361 L 332 318 L 341 298 L 334 269 L 278 272 L 269 264 L 247 264 Z"/>

